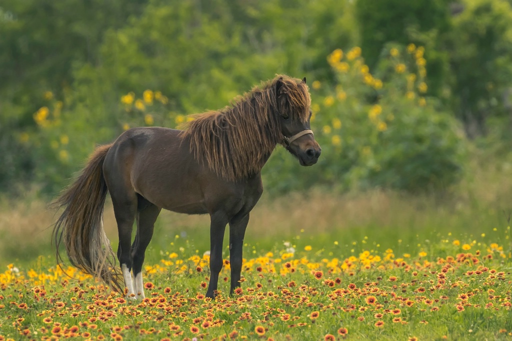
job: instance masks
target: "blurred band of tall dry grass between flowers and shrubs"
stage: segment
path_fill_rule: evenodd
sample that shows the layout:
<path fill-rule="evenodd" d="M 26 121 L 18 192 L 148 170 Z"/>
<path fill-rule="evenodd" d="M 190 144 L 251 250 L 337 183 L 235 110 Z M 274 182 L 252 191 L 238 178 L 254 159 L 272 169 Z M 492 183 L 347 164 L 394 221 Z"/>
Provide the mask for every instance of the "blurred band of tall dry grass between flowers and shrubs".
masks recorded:
<path fill-rule="evenodd" d="M 247 238 L 252 244 L 261 238 L 279 240 L 305 234 L 340 234 L 366 229 L 382 233 L 388 229 L 404 233 L 438 229 L 480 235 L 479 231 L 506 226 L 512 212 L 512 163 L 488 162 L 475 157 L 459 185 L 443 193 L 404 194 L 385 190 L 336 194 L 325 191 L 293 193 L 278 198 L 263 195 L 251 212 Z M 41 200 L 0 200 L 0 268 L 16 259 L 53 255 L 51 225 L 55 212 Z M 107 235 L 117 248 L 117 227 L 111 203 L 104 210 Z M 196 231 L 209 240 L 209 217 L 163 211 L 157 222 L 158 241 L 182 231 Z M 198 232 L 199 231 L 199 232 Z M 204 232 L 203 232 L 204 231 Z M 155 239 L 157 241 L 155 241 Z M 150 244 L 150 245 L 152 245 Z"/>

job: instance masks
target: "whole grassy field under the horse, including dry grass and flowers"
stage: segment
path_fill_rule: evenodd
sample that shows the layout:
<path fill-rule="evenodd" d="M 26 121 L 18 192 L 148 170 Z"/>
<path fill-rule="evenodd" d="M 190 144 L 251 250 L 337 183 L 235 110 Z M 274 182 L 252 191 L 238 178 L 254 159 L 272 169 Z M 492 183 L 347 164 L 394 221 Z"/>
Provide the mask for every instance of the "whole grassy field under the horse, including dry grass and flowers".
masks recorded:
<path fill-rule="evenodd" d="M 204 298 L 208 217 L 164 212 L 146 256 L 144 302 L 55 266 L 53 212 L 0 204 L 2 339 L 508 339 L 512 170 L 475 167 L 443 195 L 321 191 L 251 213 L 242 289 L 229 252 Z M 116 245 L 112 208 L 105 228 Z M 227 242 L 224 244 L 227 246 Z"/>

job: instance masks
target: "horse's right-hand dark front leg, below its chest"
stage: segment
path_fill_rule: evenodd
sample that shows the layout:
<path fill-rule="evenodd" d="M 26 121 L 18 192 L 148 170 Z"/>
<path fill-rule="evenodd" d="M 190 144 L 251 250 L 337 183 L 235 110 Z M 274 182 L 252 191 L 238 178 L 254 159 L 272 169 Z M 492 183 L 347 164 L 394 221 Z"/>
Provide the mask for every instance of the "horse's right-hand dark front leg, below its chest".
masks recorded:
<path fill-rule="evenodd" d="M 229 222 L 229 258 L 231 265 L 231 289 L 229 295 L 233 294 L 235 288 L 240 286 L 240 273 L 242 272 L 242 248 L 244 246 L 244 235 L 249 213 L 239 219 L 232 219 Z"/>

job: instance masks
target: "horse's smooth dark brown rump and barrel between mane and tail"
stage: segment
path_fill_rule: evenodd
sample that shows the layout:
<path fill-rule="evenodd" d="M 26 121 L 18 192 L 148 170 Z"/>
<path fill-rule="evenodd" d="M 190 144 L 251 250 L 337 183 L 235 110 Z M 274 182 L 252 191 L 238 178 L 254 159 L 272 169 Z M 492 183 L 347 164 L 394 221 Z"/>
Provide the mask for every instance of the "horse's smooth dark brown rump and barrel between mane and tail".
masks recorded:
<path fill-rule="evenodd" d="M 180 130 L 141 127 L 126 130 L 114 142 L 103 166 L 109 190 L 122 189 L 171 211 L 201 214 L 203 167 L 190 153 Z M 110 183 L 110 184 L 109 184 Z"/>

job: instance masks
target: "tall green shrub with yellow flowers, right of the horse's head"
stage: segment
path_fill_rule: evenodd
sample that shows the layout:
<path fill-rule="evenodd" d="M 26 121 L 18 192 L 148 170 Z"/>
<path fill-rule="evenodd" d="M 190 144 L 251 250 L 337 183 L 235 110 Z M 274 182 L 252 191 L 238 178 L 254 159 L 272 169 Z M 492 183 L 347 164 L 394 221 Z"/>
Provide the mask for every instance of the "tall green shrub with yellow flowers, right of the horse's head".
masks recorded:
<path fill-rule="evenodd" d="M 418 191 L 455 183 L 464 139 L 455 120 L 424 96 L 423 54 L 414 44 L 403 51 L 393 47 L 379 62 L 379 78 L 369 73 L 358 47 L 330 54 L 336 83 L 311 85 L 312 126 L 322 156 L 302 170 L 289 167 L 291 161 L 278 153 L 265 169 L 270 187 L 282 191 L 320 183 L 343 190 Z M 284 167 L 292 174 L 286 176 Z"/>

